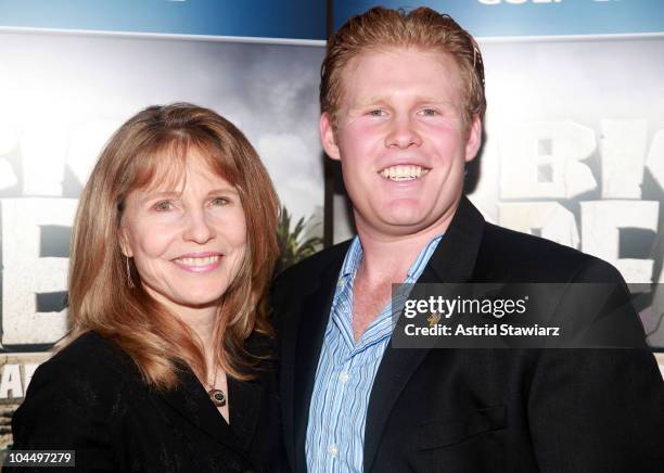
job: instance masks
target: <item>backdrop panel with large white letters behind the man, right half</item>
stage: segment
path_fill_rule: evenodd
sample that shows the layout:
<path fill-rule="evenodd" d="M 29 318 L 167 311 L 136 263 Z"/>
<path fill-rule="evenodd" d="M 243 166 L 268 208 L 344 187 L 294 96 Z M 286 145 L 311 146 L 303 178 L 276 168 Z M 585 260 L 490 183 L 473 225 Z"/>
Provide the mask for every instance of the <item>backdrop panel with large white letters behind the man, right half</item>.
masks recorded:
<path fill-rule="evenodd" d="M 414 3 L 450 14 L 483 52 L 488 108 L 470 199 L 491 222 L 651 284 L 639 309 L 664 349 L 664 3 L 381 2 Z M 335 26 L 373 4 L 334 2 Z M 352 232 L 341 195 L 334 213 L 341 241 Z"/>

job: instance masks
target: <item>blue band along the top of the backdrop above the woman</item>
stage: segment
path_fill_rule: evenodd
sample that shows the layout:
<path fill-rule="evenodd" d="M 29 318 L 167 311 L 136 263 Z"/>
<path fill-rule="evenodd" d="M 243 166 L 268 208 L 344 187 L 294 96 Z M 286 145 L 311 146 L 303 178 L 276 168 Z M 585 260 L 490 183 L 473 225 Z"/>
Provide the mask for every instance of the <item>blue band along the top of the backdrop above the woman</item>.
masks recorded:
<path fill-rule="evenodd" d="M 324 39 L 318 0 L 0 0 L 0 26 Z"/>

